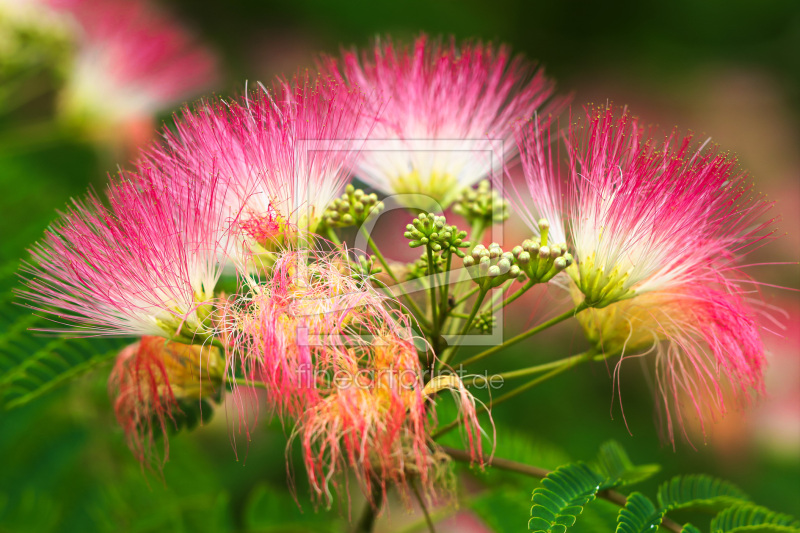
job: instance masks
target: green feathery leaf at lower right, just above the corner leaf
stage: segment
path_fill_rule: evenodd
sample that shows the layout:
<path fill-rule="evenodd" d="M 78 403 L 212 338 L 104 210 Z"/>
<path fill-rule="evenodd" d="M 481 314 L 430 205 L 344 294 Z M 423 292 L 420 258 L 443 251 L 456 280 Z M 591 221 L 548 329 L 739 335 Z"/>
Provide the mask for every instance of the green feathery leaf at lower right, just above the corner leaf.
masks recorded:
<path fill-rule="evenodd" d="M 733 483 L 704 474 L 675 476 L 658 487 L 658 504 L 667 510 L 716 508 L 749 501 L 750 498 Z"/>

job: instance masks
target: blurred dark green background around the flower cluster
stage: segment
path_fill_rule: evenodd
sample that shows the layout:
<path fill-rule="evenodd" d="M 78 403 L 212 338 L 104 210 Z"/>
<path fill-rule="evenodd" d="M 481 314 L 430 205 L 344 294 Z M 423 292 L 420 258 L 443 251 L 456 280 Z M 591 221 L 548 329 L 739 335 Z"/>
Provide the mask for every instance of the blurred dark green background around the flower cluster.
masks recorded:
<path fill-rule="evenodd" d="M 221 95 L 241 91 L 245 80 L 268 81 L 277 73 L 313 67 L 318 52 L 363 46 L 375 35 L 407 40 L 422 30 L 506 42 L 541 62 L 561 91 L 574 93 L 577 105 L 607 100 L 627 104 L 649 122 L 695 130 L 738 154 L 760 190 L 778 200 L 780 227 L 788 232 L 759 259 L 799 258 L 798 2 L 173 0 L 165 5 L 218 50 L 225 71 L 217 90 Z M 55 210 L 88 185 L 102 187 L 105 173 L 132 157 L 47 129 L 42 122 L 51 112 L 51 100 L 45 93 L 0 119 L 3 291 L 16 283 L 18 259 L 40 237 Z M 169 120 L 169 115 L 162 119 Z M 763 267 L 753 274 L 798 287 L 796 266 Z M 707 444 L 699 435 L 694 437 L 696 449 L 683 442 L 675 450 L 661 444 L 652 393 L 635 363 L 623 371 L 627 425 L 618 404 L 612 403 L 613 369 L 597 363 L 498 408 L 500 439 L 513 428 L 518 441 L 532 443 L 529 452 L 538 454 L 541 466 L 554 467 L 564 458 L 589 459 L 603 441 L 614 438 L 634 460 L 664 466 L 656 481 L 642 487 L 647 494 L 674 473 L 706 472 L 733 480 L 758 503 L 800 514 L 800 305 L 788 291 L 767 292 L 766 298 L 789 312 L 784 322 L 790 326 L 785 338 L 767 339 L 773 356 L 768 376 L 772 396 L 749 414 L 732 413 L 709 431 Z M 529 316 L 523 318 L 536 320 L 551 301 L 537 306 L 529 300 Z M 547 360 L 572 353 L 580 348 L 575 340 L 579 336 L 574 324 L 564 325 L 537 344 L 503 355 L 496 368 L 513 366 L 515 357 Z M 27 406 L 0 412 L 0 531 L 344 527 L 346 505 L 313 512 L 301 465 L 295 471 L 304 512 L 297 509 L 286 489 L 285 432 L 280 424 L 267 424 L 264 413 L 248 442 L 235 413 L 221 409 L 203 427 L 170 440 L 163 481 L 142 473 L 114 421 L 107 375 L 108 367 L 98 369 Z M 510 444 L 505 446 L 508 454 L 514 453 Z M 498 444 L 498 455 L 503 447 Z M 487 482 L 480 473 L 461 476 L 467 492 L 480 492 Z M 491 525 L 506 531 L 508 524 L 518 523 L 523 530 L 535 483 L 506 478 L 498 491 L 502 498 L 491 502 L 499 520 Z M 354 514 L 360 505 L 354 498 Z M 597 514 L 604 511 L 599 508 Z M 397 524 L 418 519 L 393 509 L 379 521 L 378 531 L 395 531 Z M 286 521 L 298 525 L 276 525 Z M 479 527 L 468 516 L 459 516 L 440 531 L 481 531 Z"/>

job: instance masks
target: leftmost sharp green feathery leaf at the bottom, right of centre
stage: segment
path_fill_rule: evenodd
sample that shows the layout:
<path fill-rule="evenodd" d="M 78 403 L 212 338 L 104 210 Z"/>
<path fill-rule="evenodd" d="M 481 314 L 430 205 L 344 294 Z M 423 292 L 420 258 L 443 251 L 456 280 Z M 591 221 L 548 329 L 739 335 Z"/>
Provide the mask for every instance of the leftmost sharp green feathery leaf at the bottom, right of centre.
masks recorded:
<path fill-rule="evenodd" d="M 533 491 L 528 529 L 563 533 L 572 526 L 583 506 L 594 500 L 603 478 L 583 463 L 557 468 Z"/>

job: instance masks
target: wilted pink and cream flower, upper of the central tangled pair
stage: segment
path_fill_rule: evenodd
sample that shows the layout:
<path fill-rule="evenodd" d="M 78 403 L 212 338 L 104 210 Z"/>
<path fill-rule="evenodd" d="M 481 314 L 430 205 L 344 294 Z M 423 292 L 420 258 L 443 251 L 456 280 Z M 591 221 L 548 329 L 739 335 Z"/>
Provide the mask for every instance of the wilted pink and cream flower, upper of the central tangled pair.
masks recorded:
<path fill-rule="evenodd" d="M 312 250 L 279 252 L 252 294 L 220 311 L 220 333 L 240 358 L 230 364 L 266 385 L 268 404 L 281 416 L 297 417 L 319 401 L 318 380 L 342 343 L 359 330 L 396 322 L 387 298 L 353 277 L 344 259 Z"/>

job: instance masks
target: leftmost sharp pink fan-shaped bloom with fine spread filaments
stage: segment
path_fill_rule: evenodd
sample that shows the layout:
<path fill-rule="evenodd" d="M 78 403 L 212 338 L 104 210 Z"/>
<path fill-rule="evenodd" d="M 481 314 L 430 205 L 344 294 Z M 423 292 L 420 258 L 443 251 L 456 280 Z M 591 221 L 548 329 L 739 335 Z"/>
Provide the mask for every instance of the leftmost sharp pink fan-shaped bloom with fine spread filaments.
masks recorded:
<path fill-rule="evenodd" d="M 157 169 L 121 172 L 53 223 L 31 249 L 24 298 L 81 335 L 160 335 L 186 342 L 211 334 L 210 313 L 228 227 L 221 179 L 191 187 Z"/>

